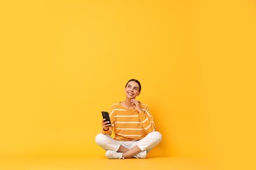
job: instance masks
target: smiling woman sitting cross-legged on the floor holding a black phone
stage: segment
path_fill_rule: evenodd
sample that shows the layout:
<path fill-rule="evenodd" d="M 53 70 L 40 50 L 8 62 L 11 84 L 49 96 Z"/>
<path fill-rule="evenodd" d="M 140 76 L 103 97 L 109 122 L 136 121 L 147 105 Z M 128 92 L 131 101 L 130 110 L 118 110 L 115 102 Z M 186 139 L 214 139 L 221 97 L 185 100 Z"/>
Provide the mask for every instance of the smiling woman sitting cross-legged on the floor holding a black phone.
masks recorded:
<path fill-rule="evenodd" d="M 125 85 L 125 101 L 110 108 L 112 126 L 102 120 L 102 130 L 95 141 L 106 150 L 107 158 L 146 158 L 146 154 L 161 141 L 161 133 L 155 131 L 148 106 L 136 100 L 140 90 L 139 80 L 129 80 Z M 112 131 L 114 139 L 110 136 Z"/>

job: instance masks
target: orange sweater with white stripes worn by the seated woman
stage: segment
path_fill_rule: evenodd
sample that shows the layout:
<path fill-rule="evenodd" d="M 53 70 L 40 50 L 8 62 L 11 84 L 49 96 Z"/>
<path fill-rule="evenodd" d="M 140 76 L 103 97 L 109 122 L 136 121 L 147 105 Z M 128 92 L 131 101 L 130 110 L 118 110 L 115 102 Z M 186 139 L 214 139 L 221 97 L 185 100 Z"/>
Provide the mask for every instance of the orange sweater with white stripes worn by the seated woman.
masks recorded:
<path fill-rule="evenodd" d="M 148 105 L 140 103 L 142 112 L 135 109 L 126 109 L 121 103 L 116 103 L 110 108 L 110 121 L 112 126 L 102 133 L 111 135 L 112 131 L 117 141 L 139 141 L 152 131 L 156 126 Z"/>

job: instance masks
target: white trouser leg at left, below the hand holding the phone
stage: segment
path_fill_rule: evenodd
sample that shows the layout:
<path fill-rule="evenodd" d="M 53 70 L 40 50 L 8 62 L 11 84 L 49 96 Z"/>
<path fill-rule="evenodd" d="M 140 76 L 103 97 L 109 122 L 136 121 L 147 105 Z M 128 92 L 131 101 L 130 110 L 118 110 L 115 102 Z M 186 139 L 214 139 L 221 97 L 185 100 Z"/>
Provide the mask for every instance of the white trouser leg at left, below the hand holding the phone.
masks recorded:
<path fill-rule="evenodd" d="M 100 147 L 104 148 L 104 150 L 114 150 L 115 152 L 117 152 L 121 145 L 119 141 L 114 140 L 110 135 L 105 135 L 102 133 L 96 135 L 95 142 Z"/>

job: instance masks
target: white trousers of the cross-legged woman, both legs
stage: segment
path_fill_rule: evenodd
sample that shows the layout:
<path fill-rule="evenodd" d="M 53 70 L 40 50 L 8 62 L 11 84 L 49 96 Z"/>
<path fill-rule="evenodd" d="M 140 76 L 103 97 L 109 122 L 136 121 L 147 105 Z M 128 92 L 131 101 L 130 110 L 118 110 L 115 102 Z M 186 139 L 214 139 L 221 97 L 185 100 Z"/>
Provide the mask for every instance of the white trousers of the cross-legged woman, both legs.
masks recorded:
<path fill-rule="evenodd" d="M 152 148 L 154 148 L 154 146 L 161 142 L 161 133 L 158 131 L 148 133 L 148 135 L 146 135 L 146 137 L 143 139 L 140 139 L 140 141 L 116 141 L 110 135 L 99 133 L 96 135 L 95 142 L 104 148 L 104 150 L 114 150 L 117 152 L 121 145 L 128 149 L 131 149 L 137 145 L 139 146 L 140 150 L 146 150 L 148 153 Z"/>

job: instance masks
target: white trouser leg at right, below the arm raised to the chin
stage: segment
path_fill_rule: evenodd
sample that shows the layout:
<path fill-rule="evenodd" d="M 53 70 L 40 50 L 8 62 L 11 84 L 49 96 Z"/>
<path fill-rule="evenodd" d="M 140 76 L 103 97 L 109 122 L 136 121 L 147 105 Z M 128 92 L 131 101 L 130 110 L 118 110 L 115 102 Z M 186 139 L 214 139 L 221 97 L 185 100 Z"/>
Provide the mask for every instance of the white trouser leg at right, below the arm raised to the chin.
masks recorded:
<path fill-rule="evenodd" d="M 146 137 L 143 139 L 140 139 L 140 141 L 137 141 L 137 143 L 133 144 L 133 146 L 139 146 L 140 150 L 144 151 L 146 150 L 147 153 L 154 148 L 156 145 L 158 145 L 161 142 L 161 133 L 158 131 L 153 131 L 151 133 L 148 133 Z"/>

